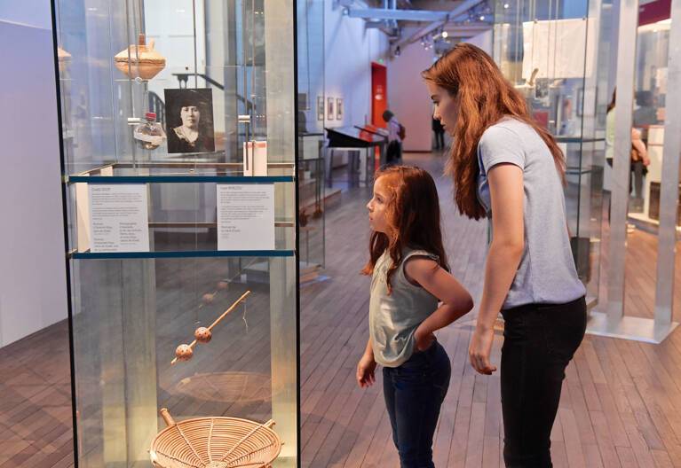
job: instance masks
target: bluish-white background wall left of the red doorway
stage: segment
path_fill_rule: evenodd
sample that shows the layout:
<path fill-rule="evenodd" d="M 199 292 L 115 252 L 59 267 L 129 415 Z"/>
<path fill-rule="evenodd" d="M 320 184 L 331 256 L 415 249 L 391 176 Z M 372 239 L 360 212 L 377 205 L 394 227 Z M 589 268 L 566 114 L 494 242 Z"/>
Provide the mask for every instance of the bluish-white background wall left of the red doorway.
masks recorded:
<path fill-rule="evenodd" d="M 360 18 L 343 16 L 333 4 L 324 2 L 325 88 L 327 98 L 343 98 L 344 115 L 326 126 L 361 125 L 371 120 L 371 62 L 387 56 L 388 38 L 378 29 L 365 29 Z"/>

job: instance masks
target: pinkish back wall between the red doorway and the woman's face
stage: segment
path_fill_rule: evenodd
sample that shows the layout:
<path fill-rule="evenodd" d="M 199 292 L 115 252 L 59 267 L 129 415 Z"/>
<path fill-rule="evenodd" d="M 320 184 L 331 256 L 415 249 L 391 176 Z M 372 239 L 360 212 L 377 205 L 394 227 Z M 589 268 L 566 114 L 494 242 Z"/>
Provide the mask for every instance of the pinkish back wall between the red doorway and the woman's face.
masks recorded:
<path fill-rule="evenodd" d="M 432 104 L 421 72 L 432 65 L 433 58 L 432 50 L 412 43 L 388 64 L 388 108 L 407 130 L 403 151 L 429 152 L 432 148 Z"/>

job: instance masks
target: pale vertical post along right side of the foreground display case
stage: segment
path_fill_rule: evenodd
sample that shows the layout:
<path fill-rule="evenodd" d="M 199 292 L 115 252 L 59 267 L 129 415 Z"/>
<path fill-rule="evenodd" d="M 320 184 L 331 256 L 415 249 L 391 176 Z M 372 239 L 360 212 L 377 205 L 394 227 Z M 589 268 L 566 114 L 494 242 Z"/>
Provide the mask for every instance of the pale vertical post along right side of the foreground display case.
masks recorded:
<path fill-rule="evenodd" d="M 265 112 L 267 159 L 295 161 L 296 61 L 295 2 L 265 2 Z M 254 32 L 255 34 L 255 32 Z M 253 39 L 255 41 L 255 38 Z M 255 94 L 256 90 L 251 90 Z M 294 166 L 294 175 L 297 167 Z M 277 216 L 297 219 L 297 193 L 277 188 Z M 283 230 L 277 242 L 295 245 L 297 230 Z M 298 255 L 273 258 L 270 271 L 270 330 L 272 355 L 272 418 L 284 441 L 274 467 L 293 467 L 298 458 L 297 284 Z"/>

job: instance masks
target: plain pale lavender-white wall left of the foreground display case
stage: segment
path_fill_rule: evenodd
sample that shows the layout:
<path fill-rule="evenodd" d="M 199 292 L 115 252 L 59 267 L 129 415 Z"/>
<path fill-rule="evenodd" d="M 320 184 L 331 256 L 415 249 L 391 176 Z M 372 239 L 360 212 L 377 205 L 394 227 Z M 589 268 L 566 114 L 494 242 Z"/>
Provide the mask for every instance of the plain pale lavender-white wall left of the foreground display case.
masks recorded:
<path fill-rule="evenodd" d="M 50 2 L 3 4 L 0 347 L 67 317 Z"/>

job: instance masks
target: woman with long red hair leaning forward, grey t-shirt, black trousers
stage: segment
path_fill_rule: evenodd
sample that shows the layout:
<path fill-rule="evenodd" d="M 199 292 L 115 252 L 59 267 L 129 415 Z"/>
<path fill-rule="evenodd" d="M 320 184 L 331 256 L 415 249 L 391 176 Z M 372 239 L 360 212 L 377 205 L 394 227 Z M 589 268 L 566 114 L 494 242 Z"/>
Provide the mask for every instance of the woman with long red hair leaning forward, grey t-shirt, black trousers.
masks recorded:
<path fill-rule="evenodd" d="M 566 223 L 566 163 L 487 53 L 457 44 L 423 77 L 454 144 L 447 174 L 459 211 L 491 220 L 485 285 L 471 339 L 471 365 L 489 355 L 501 311 L 503 458 L 508 467 L 550 467 L 550 432 L 567 364 L 586 328 Z"/>

